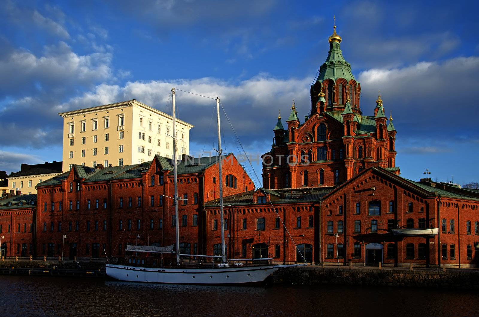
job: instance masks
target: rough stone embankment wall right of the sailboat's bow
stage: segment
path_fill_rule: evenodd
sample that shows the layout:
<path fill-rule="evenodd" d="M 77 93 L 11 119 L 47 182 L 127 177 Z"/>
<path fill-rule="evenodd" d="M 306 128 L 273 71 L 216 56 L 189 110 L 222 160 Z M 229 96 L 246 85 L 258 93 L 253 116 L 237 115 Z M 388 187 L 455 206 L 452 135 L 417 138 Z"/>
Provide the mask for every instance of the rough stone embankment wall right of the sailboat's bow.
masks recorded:
<path fill-rule="evenodd" d="M 343 284 L 369 286 L 436 287 L 479 290 L 478 270 L 410 271 L 401 268 L 322 268 L 320 266 L 280 269 L 274 283 Z"/>

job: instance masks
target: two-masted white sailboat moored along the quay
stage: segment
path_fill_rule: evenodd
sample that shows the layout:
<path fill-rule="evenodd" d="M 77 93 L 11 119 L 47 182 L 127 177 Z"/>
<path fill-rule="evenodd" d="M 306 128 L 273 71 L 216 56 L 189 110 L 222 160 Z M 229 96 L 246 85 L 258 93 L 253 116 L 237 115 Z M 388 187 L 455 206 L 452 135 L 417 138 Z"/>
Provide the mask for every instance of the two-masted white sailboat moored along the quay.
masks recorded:
<path fill-rule="evenodd" d="M 173 105 L 173 134 L 176 124 L 176 110 L 175 110 L 175 89 L 172 92 Z M 216 99 L 217 106 L 217 129 L 218 129 L 218 153 L 219 153 L 219 180 L 222 180 L 222 148 L 221 148 L 221 131 L 220 131 L 220 116 L 219 116 L 219 98 Z M 129 282 L 145 282 L 145 283 L 170 283 L 170 284 L 246 284 L 246 283 L 261 283 L 268 276 L 276 272 L 279 268 L 304 266 L 301 264 L 253 264 L 244 265 L 238 261 L 249 260 L 254 261 L 273 260 L 273 259 L 236 259 L 235 263 L 231 265 L 226 260 L 226 246 L 225 246 L 225 222 L 223 212 L 223 182 L 219 182 L 219 205 L 221 215 L 221 256 L 215 255 L 191 255 L 180 253 L 180 231 L 179 231 L 179 217 L 178 217 L 178 185 L 177 185 L 177 166 L 176 166 L 176 136 L 173 135 L 173 173 L 174 173 L 174 206 L 175 206 L 175 226 L 176 226 L 176 243 L 174 246 L 155 247 L 155 246 L 132 246 L 128 245 L 125 251 L 130 252 L 147 252 L 147 253 L 170 253 L 176 255 L 176 266 L 161 267 L 157 265 L 157 261 L 153 261 L 153 265 L 145 266 L 144 260 L 129 259 L 125 264 L 107 263 L 106 274 L 114 279 Z M 204 266 L 183 265 L 181 263 L 181 256 L 188 257 L 204 257 L 212 258 L 210 263 L 205 263 Z M 215 259 L 221 259 L 221 262 L 215 263 Z M 147 263 L 148 264 L 148 263 Z"/>

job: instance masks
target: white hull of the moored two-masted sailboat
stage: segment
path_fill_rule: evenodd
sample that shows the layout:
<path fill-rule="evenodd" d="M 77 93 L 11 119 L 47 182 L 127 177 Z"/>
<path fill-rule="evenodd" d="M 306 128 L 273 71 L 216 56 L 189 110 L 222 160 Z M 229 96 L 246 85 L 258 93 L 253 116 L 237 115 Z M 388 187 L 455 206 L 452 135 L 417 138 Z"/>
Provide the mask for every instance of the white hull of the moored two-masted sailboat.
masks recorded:
<path fill-rule="evenodd" d="M 106 264 L 106 274 L 128 282 L 170 284 L 244 284 L 263 282 L 281 267 L 292 265 L 264 265 L 253 267 L 229 267 L 214 269 L 144 268 L 120 264 Z"/>

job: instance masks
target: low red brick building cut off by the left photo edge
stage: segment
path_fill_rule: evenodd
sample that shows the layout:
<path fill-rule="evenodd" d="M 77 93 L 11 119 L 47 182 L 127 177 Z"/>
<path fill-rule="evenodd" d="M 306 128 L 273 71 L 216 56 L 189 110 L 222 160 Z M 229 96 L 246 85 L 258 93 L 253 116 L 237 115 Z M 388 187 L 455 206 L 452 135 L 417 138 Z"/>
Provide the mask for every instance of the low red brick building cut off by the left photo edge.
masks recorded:
<path fill-rule="evenodd" d="M 6 194 L 0 199 L 0 255 L 33 255 L 36 195 Z"/>

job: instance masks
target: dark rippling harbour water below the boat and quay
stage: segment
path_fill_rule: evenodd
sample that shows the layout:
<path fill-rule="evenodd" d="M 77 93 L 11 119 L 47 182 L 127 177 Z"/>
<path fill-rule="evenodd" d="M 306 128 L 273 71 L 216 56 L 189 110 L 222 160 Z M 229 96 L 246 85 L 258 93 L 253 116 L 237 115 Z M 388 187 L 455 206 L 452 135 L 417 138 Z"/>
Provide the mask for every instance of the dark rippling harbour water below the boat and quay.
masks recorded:
<path fill-rule="evenodd" d="M 2 316 L 478 316 L 473 291 L 225 287 L 0 276 Z"/>

